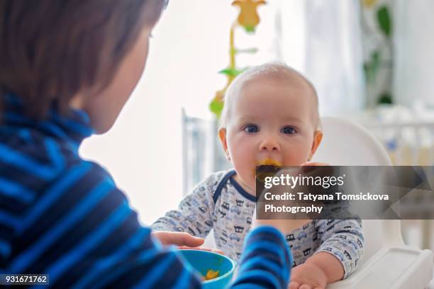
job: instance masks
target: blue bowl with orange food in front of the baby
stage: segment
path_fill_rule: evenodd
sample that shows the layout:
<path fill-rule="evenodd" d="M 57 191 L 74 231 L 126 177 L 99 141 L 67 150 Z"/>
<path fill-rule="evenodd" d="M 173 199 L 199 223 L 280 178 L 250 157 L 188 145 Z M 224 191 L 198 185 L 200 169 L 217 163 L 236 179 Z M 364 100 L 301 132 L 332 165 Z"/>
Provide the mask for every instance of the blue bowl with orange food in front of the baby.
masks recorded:
<path fill-rule="evenodd" d="M 179 250 L 184 259 L 196 270 L 201 276 L 205 276 L 208 270 L 218 271 L 218 277 L 211 280 L 202 281 L 203 288 L 221 289 L 232 280 L 235 271 L 235 262 L 221 254 L 201 250 Z"/>

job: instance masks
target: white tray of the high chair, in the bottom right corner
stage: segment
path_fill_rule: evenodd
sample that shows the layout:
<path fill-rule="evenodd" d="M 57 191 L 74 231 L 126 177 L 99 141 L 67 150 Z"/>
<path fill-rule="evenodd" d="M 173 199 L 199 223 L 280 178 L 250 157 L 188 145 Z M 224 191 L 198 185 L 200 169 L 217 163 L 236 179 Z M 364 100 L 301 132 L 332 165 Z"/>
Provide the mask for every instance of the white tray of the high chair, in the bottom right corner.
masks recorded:
<path fill-rule="evenodd" d="M 385 247 L 363 263 L 357 274 L 327 288 L 422 289 L 430 282 L 432 275 L 432 251 L 410 246 Z"/>

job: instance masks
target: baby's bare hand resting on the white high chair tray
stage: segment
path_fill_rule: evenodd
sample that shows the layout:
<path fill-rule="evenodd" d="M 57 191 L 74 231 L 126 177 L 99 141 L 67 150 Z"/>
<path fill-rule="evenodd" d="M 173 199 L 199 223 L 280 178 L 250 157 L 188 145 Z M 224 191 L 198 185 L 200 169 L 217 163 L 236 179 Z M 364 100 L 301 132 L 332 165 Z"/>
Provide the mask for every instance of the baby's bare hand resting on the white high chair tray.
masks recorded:
<path fill-rule="evenodd" d="M 291 269 L 289 289 L 324 289 L 325 285 L 325 272 L 313 263 L 302 263 Z"/>

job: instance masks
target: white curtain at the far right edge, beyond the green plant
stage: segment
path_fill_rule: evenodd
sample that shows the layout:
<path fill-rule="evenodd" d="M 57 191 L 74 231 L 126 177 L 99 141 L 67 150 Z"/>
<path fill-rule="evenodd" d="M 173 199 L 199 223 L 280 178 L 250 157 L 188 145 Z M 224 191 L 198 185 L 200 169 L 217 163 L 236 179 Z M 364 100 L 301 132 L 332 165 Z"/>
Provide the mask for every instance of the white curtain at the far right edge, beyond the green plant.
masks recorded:
<path fill-rule="evenodd" d="M 434 108 L 434 1 L 395 2 L 396 101 Z"/>

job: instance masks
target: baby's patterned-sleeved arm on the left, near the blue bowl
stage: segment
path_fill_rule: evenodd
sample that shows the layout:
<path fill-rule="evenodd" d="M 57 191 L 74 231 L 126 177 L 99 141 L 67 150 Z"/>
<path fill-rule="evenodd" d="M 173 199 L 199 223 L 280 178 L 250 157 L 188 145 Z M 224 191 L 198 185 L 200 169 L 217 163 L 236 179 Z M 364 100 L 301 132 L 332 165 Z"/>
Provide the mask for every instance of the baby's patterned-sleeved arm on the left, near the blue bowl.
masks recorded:
<path fill-rule="evenodd" d="M 199 183 L 184 200 L 178 210 L 169 210 L 152 224 L 154 231 L 187 232 L 196 237 L 206 237 L 213 228 L 213 183 L 215 175 Z"/>

